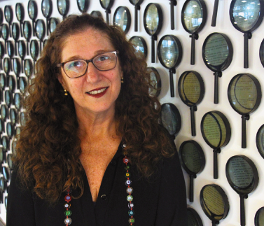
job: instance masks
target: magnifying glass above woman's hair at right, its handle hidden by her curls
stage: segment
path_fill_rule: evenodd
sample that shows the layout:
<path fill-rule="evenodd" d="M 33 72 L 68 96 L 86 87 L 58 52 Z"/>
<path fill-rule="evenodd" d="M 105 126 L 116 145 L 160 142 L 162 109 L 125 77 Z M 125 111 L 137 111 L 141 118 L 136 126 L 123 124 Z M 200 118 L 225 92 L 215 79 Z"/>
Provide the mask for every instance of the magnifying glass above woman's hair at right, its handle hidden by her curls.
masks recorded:
<path fill-rule="evenodd" d="M 127 34 L 131 24 L 130 10 L 125 6 L 119 6 L 113 14 L 113 24 L 120 27 Z"/>

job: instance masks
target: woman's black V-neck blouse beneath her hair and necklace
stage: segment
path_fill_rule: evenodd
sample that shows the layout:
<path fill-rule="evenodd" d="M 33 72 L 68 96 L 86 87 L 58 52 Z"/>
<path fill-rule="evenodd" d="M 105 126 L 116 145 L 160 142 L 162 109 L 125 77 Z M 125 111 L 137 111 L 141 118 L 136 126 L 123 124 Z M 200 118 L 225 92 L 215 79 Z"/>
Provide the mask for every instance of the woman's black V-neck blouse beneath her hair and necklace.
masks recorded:
<path fill-rule="evenodd" d="M 79 199 L 71 199 L 73 226 L 125 226 L 128 219 L 125 164 L 122 148 L 107 167 L 94 205 L 89 183 L 83 175 L 84 193 Z M 134 226 L 186 226 L 186 187 L 177 153 L 163 158 L 157 172 L 148 180 L 141 177 L 136 167 L 130 170 L 131 187 L 134 189 Z M 7 226 L 65 226 L 63 193 L 59 202 L 48 204 L 34 192 L 21 188 L 14 171 L 8 190 Z M 72 195 L 77 196 L 78 190 Z"/>

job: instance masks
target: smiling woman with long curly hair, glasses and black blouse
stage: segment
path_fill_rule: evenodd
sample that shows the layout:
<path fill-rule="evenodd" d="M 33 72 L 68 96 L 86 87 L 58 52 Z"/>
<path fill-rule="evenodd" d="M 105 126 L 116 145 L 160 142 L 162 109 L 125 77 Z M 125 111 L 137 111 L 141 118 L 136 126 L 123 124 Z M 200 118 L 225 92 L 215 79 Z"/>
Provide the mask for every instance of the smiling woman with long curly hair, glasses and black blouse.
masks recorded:
<path fill-rule="evenodd" d="M 187 225 L 179 158 L 135 51 L 88 14 L 50 34 L 25 100 L 8 226 Z"/>

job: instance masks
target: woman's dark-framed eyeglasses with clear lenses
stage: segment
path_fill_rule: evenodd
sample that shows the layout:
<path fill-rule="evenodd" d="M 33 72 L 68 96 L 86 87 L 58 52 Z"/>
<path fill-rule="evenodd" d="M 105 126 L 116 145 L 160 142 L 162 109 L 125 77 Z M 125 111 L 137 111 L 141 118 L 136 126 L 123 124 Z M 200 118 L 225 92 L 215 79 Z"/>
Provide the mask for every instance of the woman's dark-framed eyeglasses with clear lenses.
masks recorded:
<path fill-rule="evenodd" d="M 62 66 L 63 71 L 69 78 L 78 78 L 85 75 L 89 62 L 92 62 L 99 71 L 114 69 L 118 59 L 117 54 L 118 51 L 104 52 L 92 59 L 74 59 L 57 64 L 57 67 Z"/>

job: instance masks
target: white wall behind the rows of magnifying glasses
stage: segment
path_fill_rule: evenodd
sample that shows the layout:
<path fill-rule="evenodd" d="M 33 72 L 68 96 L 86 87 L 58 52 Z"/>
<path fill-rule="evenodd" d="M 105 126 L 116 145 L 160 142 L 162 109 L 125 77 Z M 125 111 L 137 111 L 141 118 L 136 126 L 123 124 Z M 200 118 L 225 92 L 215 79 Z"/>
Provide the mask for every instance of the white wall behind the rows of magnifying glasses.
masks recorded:
<path fill-rule="evenodd" d="M 45 19 L 41 13 L 41 0 L 36 0 L 36 1 L 38 3 L 38 8 L 39 8 L 38 18 Z M 240 225 L 239 195 L 237 195 L 237 193 L 234 190 L 232 190 L 232 188 L 228 184 L 228 181 L 225 176 L 225 164 L 228 161 L 228 159 L 233 155 L 246 155 L 247 157 L 251 158 L 251 160 L 253 160 L 253 162 L 256 164 L 260 178 L 258 188 L 254 192 L 252 192 L 249 195 L 249 199 L 246 199 L 245 201 L 246 225 L 251 226 L 254 225 L 253 220 L 256 211 L 258 211 L 260 207 L 264 206 L 264 196 L 263 196 L 264 181 L 263 181 L 263 170 L 262 170 L 264 160 L 260 156 L 256 148 L 256 133 L 258 131 L 258 128 L 264 123 L 264 117 L 263 117 L 264 101 L 261 101 L 259 108 L 250 115 L 251 116 L 250 120 L 246 122 L 247 148 L 242 149 L 241 148 L 241 115 L 236 113 L 231 108 L 228 102 L 227 89 L 231 78 L 237 75 L 237 73 L 251 73 L 253 76 L 256 76 L 256 78 L 258 78 L 258 80 L 260 81 L 260 85 L 263 87 L 264 90 L 264 76 L 263 76 L 264 69 L 263 66 L 260 64 L 260 59 L 258 56 L 260 43 L 264 38 L 263 35 L 264 24 L 263 23 L 260 24 L 260 27 L 258 27 L 256 31 L 253 31 L 253 37 L 249 41 L 249 69 L 244 69 L 243 68 L 244 37 L 243 34 L 237 31 L 230 22 L 229 7 L 231 0 L 219 1 L 216 27 L 211 27 L 211 16 L 214 7 L 214 0 L 205 0 L 205 1 L 208 11 L 207 22 L 204 28 L 202 29 L 202 31 L 200 31 L 199 33 L 199 39 L 195 41 L 195 65 L 193 66 L 190 65 L 189 34 L 183 29 L 181 25 L 181 9 L 185 1 L 183 0 L 177 1 L 178 4 L 175 7 L 176 29 L 173 31 L 170 29 L 169 1 L 165 1 L 165 0 L 152 0 L 152 1 L 144 0 L 144 2 L 141 4 L 141 10 L 139 13 L 140 24 L 139 24 L 138 32 L 134 32 L 134 6 L 132 6 L 132 4 L 129 1 L 115 0 L 115 3 L 113 4 L 113 7 L 111 9 L 111 15 L 110 15 L 111 23 L 113 21 L 113 13 L 116 10 L 116 8 L 118 8 L 118 6 L 127 6 L 129 8 L 130 13 L 132 15 L 132 24 L 127 36 L 129 38 L 132 36 L 144 37 L 148 45 L 148 65 L 154 66 L 156 69 L 158 69 L 161 76 L 162 90 L 160 93 L 160 101 L 162 103 L 171 102 L 175 104 L 177 108 L 179 108 L 179 111 L 181 113 L 182 127 L 181 127 L 181 131 L 179 132 L 179 135 L 176 136 L 175 139 L 177 148 L 179 148 L 179 146 L 183 141 L 194 139 L 195 141 L 200 143 L 200 146 L 202 146 L 204 150 L 204 154 L 207 162 L 204 171 L 202 171 L 202 173 L 199 174 L 195 179 L 194 202 L 193 203 L 188 202 L 188 205 L 193 207 L 200 214 L 200 217 L 202 218 L 202 222 L 204 225 L 211 225 L 211 221 L 209 220 L 209 218 L 207 218 L 207 216 L 205 216 L 205 214 L 202 211 L 199 201 L 199 195 L 200 195 L 200 190 L 204 185 L 216 183 L 217 185 L 220 185 L 221 188 L 223 188 L 223 190 L 226 192 L 230 202 L 230 211 L 228 213 L 227 218 L 221 220 L 221 225 L 229 225 L 229 226 Z M 14 10 L 13 22 L 17 21 L 15 17 L 16 2 L 22 2 L 27 12 L 27 1 L 4 1 L 0 3 L 0 7 L 3 9 L 3 11 L 4 11 L 4 6 L 6 4 L 13 6 L 13 10 Z M 158 41 L 165 34 L 173 34 L 180 39 L 181 44 L 183 46 L 183 59 L 181 61 L 181 64 L 178 66 L 178 68 L 176 68 L 176 75 L 174 75 L 174 86 L 176 87 L 176 85 L 178 84 L 177 82 L 179 80 L 179 76 L 181 76 L 181 73 L 188 70 L 194 70 L 199 72 L 204 80 L 204 85 L 205 85 L 204 99 L 202 103 L 197 106 L 198 110 L 195 113 L 196 131 L 197 131 L 197 136 L 195 137 L 192 137 L 190 134 L 190 110 L 188 106 L 183 104 L 183 102 L 179 98 L 179 94 L 177 90 L 175 90 L 176 91 L 175 97 L 174 98 L 170 97 L 168 70 L 163 68 L 162 65 L 158 62 L 158 57 L 156 57 L 156 63 L 151 64 L 151 37 L 148 36 L 143 25 L 144 9 L 146 8 L 146 5 L 150 2 L 159 3 L 164 15 L 164 22 L 163 22 L 162 30 L 158 35 Z M 100 6 L 99 0 L 90 1 L 88 13 L 90 13 L 92 10 L 101 11 L 102 15 L 105 18 L 104 9 Z M 75 0 L 72 0 L 70 2 L 69 13 L 80 13 L 78 11 L 77 3 Z M 27 13 L 25 14 L 26 14 L 25 20 L 29 20 Z M 60 20 L 62 20 L 62 16 L 57 11 L 57 1 L 55 0 L 53 0 L 52 17 L 57 17 Z M 212 32 L 221 32 L 223 34 L 228 35 L 228 37 L 232 41 L 232 46 L 234 50 L 232 63 L 230 64 L 228 69 L 223 71 L 223 77 L 219 79 L 219 90 L 220 90 L 219 104 L 214 104 L 213 72 L 207 69 L 207 66 L 204 65 L 204 62 L 202 60 L 202 44 L 204 42 L 204 39 Z M 200 121 L 202 119 L 202 116 L 204 115 L 204 113 L 214 110 L 221 111 L 228 118 L 232 129 L 230 142 L 228 143 L 227 146 L 222 148 L 221 154 L 218 155 L 219 177 L 217 180 L 214 180 L 213 178 L 213 151 L 207 145 L 207 143 L 205 143 L 200 131 Z M 185 178 L 186 178 L 186 186 L 188 190 L 188 183 L 189 183 L 188 174 L 185 174 Z M 1 218 L 3 218 L 4 220 L 6 219 L 5 214 L 6 214 L 6 209 L 4 205 L 1 204 Z"/>

